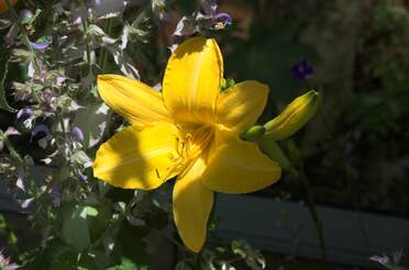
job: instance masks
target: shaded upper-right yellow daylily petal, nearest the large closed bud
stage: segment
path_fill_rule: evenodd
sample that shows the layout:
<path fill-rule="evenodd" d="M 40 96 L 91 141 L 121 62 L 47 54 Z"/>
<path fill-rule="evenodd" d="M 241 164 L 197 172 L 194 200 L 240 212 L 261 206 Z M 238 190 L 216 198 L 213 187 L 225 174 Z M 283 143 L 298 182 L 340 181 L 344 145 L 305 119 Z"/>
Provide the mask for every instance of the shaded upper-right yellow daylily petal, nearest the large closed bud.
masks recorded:
<path fill-rule="evenodd" d="M 262 114 L 268 95 L 268 87 L 257 81 L 243 81 L 220 94 L 219 124 L 241 134 Z"/>

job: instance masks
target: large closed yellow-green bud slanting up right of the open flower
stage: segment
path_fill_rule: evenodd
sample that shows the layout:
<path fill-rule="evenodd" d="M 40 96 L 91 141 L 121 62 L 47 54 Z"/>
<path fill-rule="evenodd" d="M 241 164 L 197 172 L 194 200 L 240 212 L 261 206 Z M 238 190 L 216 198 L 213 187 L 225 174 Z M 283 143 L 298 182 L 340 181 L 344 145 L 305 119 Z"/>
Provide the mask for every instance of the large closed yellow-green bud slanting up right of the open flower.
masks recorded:
<path fill-rule="evenodd" d="M 265 137 L 280 140 L 287 138 L 307 124 L 321 103 L 321 94 L 314 90 L 298 97 L 274 120 L 267 122 Z"/>

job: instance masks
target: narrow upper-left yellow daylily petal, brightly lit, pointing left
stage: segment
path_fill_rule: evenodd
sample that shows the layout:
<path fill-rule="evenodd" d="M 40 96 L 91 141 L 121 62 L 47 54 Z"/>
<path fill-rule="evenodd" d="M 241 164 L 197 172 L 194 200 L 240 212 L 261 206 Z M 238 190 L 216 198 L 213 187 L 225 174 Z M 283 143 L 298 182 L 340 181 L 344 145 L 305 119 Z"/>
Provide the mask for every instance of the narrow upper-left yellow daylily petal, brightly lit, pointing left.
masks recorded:
<path fill-rule="evenodd" d="M 170 121 L 161 93 L 141 81 L 100 75 L 98 90 L 103 101 L 133 125 L 143 127 L 156 121 Z"/>

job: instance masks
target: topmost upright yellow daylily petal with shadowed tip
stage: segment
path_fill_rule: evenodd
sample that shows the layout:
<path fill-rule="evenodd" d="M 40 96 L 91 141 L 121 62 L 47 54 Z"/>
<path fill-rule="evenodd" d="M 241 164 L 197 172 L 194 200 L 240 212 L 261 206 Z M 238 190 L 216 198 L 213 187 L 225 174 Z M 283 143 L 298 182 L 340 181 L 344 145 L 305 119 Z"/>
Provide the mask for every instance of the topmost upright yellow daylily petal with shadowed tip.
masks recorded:
<path fill-rule="evenodd" d="M 166 67 L 163 97 L 180 122 L 214 121 L 223 59 L 214 40 L 194 37 L 180 44 Z"/>

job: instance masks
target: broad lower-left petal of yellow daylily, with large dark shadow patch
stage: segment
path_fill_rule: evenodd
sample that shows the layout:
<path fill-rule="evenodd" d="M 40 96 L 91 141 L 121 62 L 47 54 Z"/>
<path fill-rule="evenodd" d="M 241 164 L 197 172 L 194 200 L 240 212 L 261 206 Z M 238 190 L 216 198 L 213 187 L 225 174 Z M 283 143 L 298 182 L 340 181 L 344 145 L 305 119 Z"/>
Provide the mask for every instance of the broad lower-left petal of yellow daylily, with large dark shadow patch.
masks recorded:
<path fill-rule="evenodd" d="M 169 123 L 155 123 L 139 131 L 130 126 L 115 134 L 97 151 L 93 176 L 123 189 L 150 190 L 175 176 L 178 130 Z"/>

